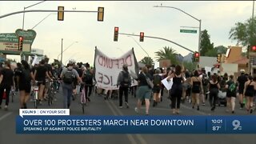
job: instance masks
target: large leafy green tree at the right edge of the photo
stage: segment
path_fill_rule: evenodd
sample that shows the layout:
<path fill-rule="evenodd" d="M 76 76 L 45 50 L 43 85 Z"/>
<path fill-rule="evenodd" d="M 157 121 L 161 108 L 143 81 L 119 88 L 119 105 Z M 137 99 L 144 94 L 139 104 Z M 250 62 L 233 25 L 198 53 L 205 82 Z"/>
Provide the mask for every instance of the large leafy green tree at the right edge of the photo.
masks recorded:
<path fill-rule="evenodd" d="M 237 22 L 230 29 L 230 39 L 237 41 L 237 45 L 253 46 L 256 45 L 256 18 L 249 18 L 246 22 Z"/>

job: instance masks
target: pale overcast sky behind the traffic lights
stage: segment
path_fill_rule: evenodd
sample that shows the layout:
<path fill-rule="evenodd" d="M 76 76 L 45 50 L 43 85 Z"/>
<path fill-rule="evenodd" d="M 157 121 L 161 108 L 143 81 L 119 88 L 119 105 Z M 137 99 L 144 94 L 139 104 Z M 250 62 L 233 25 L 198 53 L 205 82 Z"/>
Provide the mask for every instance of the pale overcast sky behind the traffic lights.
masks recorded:
<path fill-rule="evenodd" d="M 1 1 L 0 15 L 23 10 L 40 1 Z M 229 31 L 236 22 L 246 22 L 253 11 L 252 1 L 46 1 L 26 10 L 92 10 L 104 7 L 104 21 L 97 21 L 97 13 L 65 13 L 64 21 L 57 20 L 57 13 L 26 13 L 24 29 L 29 30 L 38 22 L 51 14 L 34 28 L 37 33 L 32 49 L 42 49 L 50 57 L 50 62 L 61 53 L 63 38 L 63 62 L 74 59 L 77 62 L 94 62 L 95 46 L 111 58 L 118 58 L 126 51 L 134 48 L 138 61 L 147 54 L 155 60 L 154 52 L 170 46 L 178 54 L 185 56 L 190 52 L 171 42 L 154 38 L 130 38 L 118 35 L 114 42 L 114 27 L 119 27 L 119 33 L 139 34 L 145 36 L 166 38 L 177 42 L 190 50 L 198 50 L 198 33 L 180 33 L 182 26 L 198 27 L 199 22 L 179 10 L 154 7 L 174 6 L 202 20 L 202 30 L 210 34 L 210 42 L 214 46 L 235 46 L 236 42 L 229 39 Z M 0 19 L 0 33 L 14 33 L 22 29 L 23 14 L 14 14 Z M 146 52 L 144 52 L 144 50 Z M 18 56 L 7 58 L 19 59 Z M 60 57 L 59 57 L 60 58 Z"/>

